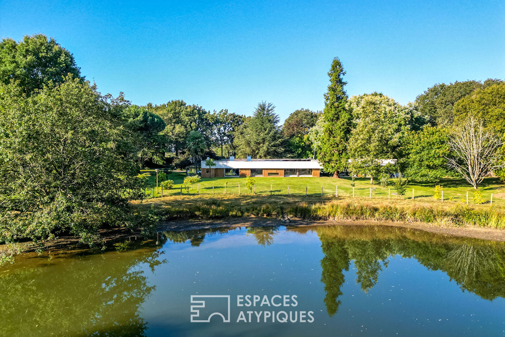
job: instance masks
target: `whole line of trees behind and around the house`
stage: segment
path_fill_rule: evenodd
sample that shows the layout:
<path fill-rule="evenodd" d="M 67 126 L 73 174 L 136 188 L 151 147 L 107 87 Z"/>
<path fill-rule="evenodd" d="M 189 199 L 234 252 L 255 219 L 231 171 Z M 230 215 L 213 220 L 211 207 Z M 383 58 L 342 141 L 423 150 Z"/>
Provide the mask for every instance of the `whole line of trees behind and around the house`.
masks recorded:
<path fill-rule="evenodd" d="M 436 84 L 402 106 L 378 92 L 349 98 L 344 75 L 335 58 L 324 111 L 299 109 L 281 125 L 269 102 L 247 117 L 182 100 L 138 106 L 100 93 L 53 38 L 3 39 L 0 242 L 43 246 L 71 233 L 93 243 L 104 225 L 148 223 L 129 212 L 143 196 L 140 169 L 206 156 L 314 157 L 335 177 L 400 171 L 427 181 L 463 176 L 475 187 L 490 171 L 505 176 L 503 81 Z"/>

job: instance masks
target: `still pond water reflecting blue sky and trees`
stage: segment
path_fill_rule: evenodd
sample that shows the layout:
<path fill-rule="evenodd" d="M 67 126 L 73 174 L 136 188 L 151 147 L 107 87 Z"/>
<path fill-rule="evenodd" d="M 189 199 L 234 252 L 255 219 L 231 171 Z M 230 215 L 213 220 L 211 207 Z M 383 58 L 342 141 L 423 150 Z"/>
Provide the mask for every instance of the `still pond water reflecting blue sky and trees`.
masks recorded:
<path fill-rule="evenodd" d="M 499 336 L 504 298 L 503 243 L 382 226 L 170 231 L 2 267 L 0 335 Z"/>

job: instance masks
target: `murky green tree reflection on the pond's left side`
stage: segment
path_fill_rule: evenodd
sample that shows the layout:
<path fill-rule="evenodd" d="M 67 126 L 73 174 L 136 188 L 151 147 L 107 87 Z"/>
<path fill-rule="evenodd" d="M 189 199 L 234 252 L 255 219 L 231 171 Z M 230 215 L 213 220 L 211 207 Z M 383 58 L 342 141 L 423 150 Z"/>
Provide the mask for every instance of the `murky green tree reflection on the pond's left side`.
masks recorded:
<path fill-rule="evenodd" d="M 138 246 L 11 266 L 0 276 L 0 335 L 143 336 L 147 322 L 138 309 L 155 287 L 139 267 L 154 271 L 166 261 L 155 247 Z"/>

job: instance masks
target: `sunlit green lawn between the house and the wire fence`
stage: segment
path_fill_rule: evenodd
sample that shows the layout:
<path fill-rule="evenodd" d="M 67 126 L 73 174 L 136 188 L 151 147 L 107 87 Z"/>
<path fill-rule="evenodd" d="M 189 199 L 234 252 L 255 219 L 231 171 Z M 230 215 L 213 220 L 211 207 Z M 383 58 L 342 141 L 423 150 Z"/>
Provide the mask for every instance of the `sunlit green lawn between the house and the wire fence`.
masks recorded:
<path fill-rule="evenodd" d="M 179 195 L 180 184 L 182 183 L 185 172 L 173 172 L 169 175 L 169 179 L 174 180 L 175 186 L 173 189 L 164 190 L 163 196 Z M 225 177 L 225 178 L 203 178 L 198 185 L 193 185 L 189 192 L 182 189 L 183 195 L 212 195 L 213 191 L 216 195 L 223 195 L 225 188 L 224 183 L 228 181 L 226 187 L 226 194 L 238 194 L 240 185 L 240 194 L 250 194 L 249 189 L 245 187 L 246 178 Z M 352 197 L 352 187 L 350 186 L 350 178 L 331 178 L 331 177 L 256 177 L 256 194 L 270 195 L 270 188 L 272 188 L 273 195 L 287 195 L 288 186 L 290 195 L 305 196 L 306 188 L 307 194 L 312 196 L 321 196 L 321 187 L 323 188 L 323 195 L 325 197 L 335 196 L 336 186 L 338 186 L 339 197 Z M 407 187 L 405 196 L 396 196 L 394 187 L 391 185 L 388 188 L 382 188 L 378 184 L 377 179 L 373 185 L 370 184 L 370 178 L 356 178 L 355 196 L 356 197 L 370 197 L 370 187 L 375 190 L 372 191 L 372 199 L 380 198 L 382 200 L 388 199 L 389 189 L 391 188 L 391 199 L 412 199 L 412 189 L 414 188 L 414 196 L 420 202 L 434 202 L 434 184 L 424 182 L 411 182 Z M 156 186 L 156 175 L 149 179 L 149 183 Z M 392 179 L 390 180 L 392 184 Z M 443 186 L 444 202 L 466 202 L 466 194 L 468 192 L 469 203 L 472 203 L 474 189 L 465 180 L 457 179 L 444 179 L 440 183 Z M 213 189 L 214 185 L 214 189 Z M 499 182 L 498 178 L 486 178 L 481 184 L 484 199 L 489 202 L 491 194 L 493 194 L 493 205 L 505 205 L 505 184 Z M 152 196 L 153 189 L 146 189 L 147 198 Z M 155 197 L 161 197 L 161 187 L 159 192 L 156 192 Z"/>

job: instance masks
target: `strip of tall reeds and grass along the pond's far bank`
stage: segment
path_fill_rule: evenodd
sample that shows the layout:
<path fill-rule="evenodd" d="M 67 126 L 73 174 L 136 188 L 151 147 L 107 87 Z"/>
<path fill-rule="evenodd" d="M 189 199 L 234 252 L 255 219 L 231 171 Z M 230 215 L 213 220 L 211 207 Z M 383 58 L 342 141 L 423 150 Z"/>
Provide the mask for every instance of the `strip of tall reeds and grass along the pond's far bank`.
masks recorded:
<path fill-rule="evenodd" d="M 370 200 L 357 197 L 298 195 L 198 195 L 170 196 L 134 203 L 137 212 L 153 210 L 161 220 L 220 219 L 258 216 L 281 218 L 283 214 L 303 220 L 421 221 L 436 225 L 478 225 L 505 229 L 501 207 L 435 200 Z"/>

